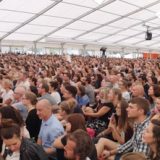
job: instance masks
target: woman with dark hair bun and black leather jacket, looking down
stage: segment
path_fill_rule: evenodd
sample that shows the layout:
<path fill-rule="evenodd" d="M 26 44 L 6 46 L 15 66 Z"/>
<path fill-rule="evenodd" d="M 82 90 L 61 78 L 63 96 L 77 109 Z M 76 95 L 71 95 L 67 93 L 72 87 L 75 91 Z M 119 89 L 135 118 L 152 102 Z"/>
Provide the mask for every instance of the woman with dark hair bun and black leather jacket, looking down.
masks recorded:
<path fill-rule="evenodd" d="M 11 152 L 20 152 L 19 160 L 48 160 L 43 148 L 22 138 L 20 127 L 12 121 L 2 123 L 1 137 Z M 3 156 L 5 158 L 5 154 Z"/>

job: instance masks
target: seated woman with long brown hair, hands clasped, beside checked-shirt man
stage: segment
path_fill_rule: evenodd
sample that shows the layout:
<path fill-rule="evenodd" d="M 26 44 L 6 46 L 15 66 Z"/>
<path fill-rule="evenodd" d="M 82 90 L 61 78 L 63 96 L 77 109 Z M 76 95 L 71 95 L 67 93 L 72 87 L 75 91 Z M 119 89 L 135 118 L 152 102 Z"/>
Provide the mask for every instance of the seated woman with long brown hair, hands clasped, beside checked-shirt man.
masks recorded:
<path fill-rule="evenodd" d="M 112 141 L 107 138 L 100 138 L 96 144 L 98 156 L 100 156 L 102 152 L 105 152 L 104 148 L 106 148 L 107 153 L 109 153 L 110 150 L 117 148 L 119 144 L 124 144 L 132 137 L 133 132 L 127 117 L 127 107 L 128 103 L 125 100 L 121 100 L 116 107 L 117 120 L 115 115 L 112 115 L 108 128 L 98 135 L 104 136 L 105 134 L 111 133 L 114 140 Z"/>

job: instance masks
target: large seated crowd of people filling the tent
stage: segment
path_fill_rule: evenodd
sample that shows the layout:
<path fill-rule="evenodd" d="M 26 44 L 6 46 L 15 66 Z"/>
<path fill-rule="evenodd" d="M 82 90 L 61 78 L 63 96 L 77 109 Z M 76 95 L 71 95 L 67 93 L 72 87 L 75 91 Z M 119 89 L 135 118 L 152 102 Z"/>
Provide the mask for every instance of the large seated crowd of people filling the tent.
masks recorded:
<path fill-rule="evenodd" d="M 3 54 L 5 160 L 159 160 L 160 60 Z"/>

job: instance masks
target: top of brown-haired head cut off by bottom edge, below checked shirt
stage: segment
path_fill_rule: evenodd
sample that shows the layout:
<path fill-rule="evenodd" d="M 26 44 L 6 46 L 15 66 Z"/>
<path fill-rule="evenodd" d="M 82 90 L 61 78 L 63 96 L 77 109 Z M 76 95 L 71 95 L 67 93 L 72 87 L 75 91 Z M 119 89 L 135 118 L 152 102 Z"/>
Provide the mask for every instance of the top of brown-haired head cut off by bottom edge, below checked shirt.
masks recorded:
<path fill-rule="evenodd" d="M 121 157 L 121 160 L 147 160 L 145 155 L 140 152 L 130 152 L 126 153 Z"/>

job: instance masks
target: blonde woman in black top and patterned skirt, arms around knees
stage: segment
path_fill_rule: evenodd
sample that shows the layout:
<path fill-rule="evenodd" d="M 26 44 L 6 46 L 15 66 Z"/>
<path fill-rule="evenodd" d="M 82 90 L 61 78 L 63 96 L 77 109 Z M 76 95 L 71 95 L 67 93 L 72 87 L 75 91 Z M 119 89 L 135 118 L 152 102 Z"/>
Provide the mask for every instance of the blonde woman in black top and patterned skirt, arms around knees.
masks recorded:
<path fill-rule="evenodd" d="M 115 107 L 108 99 L 108 88 L 101 88 L 97 96 L 98 104 L 95 109 L 86 107 L 83 114 L 87 117 L 87 127 L 95 130 L 96 134 L 104 130 L 109 124 L 109 117 L 115 112 Z"/>

